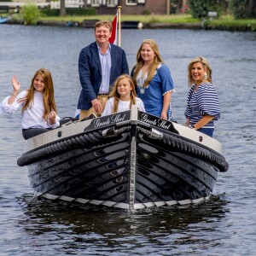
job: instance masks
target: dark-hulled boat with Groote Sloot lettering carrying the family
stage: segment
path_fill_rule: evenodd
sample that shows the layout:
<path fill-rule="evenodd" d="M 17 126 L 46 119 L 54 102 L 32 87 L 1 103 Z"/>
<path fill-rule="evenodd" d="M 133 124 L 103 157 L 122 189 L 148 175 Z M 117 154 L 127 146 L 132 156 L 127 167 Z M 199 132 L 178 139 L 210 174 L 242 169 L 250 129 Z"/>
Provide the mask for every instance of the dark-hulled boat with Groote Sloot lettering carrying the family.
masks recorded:
<path fill-rule="evenodd" d="M 26 147 L 17 164 L 36 197 L 128 211 L 206 201 L 229 168 L 216 139 L 136 106 L 65 119 Z"/>

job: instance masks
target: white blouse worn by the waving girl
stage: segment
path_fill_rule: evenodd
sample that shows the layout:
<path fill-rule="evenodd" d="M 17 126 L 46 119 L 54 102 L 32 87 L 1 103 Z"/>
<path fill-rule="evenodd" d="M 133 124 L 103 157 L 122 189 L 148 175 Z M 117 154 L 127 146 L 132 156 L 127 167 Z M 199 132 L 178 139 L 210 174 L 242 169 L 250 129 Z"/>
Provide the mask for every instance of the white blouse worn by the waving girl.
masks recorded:
<path fill-rule="evenodd" d="M 3 99 L 3 102 L 0 103 L 0 113 L 1 108 L 3 113 L 15 113 L 16 110 L 22 108 L 24 102 L 18 102 L 20 98 L 26 96 L 27 90 L 23 90 L 15 98 L 15 102 L 8 104 L 9 96 Z M 22 120 L 21 126 L 22 129 L 29 128 L 52 128 L 55 129 L 60 125 L 60 117 L 56 116 L 55 124 L 49 125 L 48 121 L 43 119 L 44 114 L 44 95 L 38 91 L 35 91 L 34 101 L 31 108 L 27 108 L 25 111 L 21 112 Z"/>

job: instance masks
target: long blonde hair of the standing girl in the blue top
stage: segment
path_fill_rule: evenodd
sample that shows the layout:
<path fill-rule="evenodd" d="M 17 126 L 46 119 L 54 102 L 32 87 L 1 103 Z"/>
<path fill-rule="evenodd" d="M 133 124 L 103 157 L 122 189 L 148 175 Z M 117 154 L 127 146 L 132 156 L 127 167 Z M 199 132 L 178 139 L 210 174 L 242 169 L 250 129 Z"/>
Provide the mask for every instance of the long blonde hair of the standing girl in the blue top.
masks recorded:
<path fill-rule="evenodd" d="M 143 58 L 142 58 L 142 55 L 141 55 L 141 51 L 143 49 L 143 44 L 149 44 L 150 47 L 153 49 L 154 54 L 155 54 L 154 61 L 153 61 L 152 65 L 149 67 L 149 70 L 148 70 L 148 78 L 145 80 L 145 82 L 143 84 L 143 86 L 146 87 L 151 82 L 151 80 L 153 79 L 156 68 L 158 67 L 158 65 L 160 63 L 163 62 L 163 60 L 160 56 L 160 50 L 159 50 L 158 45 L 156 44 L 156 42 L 153 39 L 143 40 L 143 43 L 141 44 L 140 48 L 137 51 L 137 65 L 134 67 L 133 82 L 134 82 L 135 85 L 137 85 L 137 75 L 140 72 L 140 70 L 142 69 L 143 64 L 144 64 L 144 61 L 143 61 Z"/>

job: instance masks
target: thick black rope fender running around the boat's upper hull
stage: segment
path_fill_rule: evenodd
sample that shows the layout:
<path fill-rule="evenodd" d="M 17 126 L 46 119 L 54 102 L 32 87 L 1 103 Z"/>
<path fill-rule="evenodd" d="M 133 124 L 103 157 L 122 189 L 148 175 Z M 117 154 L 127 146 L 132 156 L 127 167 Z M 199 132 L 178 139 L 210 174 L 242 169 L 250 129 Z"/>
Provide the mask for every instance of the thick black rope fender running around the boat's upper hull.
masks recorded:
<path fill-rule="evenodd" d="M 129 131 L 130 129 L 131 126 L 125 127 L 126 131 Z M 143 127 L 139 129 L 144 133 L 149 132 Z M 124 131 L 124 129 L 122 131 Z M 103 137 L 102 131 L 84 133 L 79 136 L 69 137 L 60 142 L 51 143 L 44 148 L 38 148 L 37 150 L 26 152 L 25 154 L 22 154 L 22 156 L 17 160 L 17 164 L 18 166 L 28 166 L 37 162 L 38 160 L 48 158 L 53 154 L 58 155 L 68 152 L 73 148 L 88 148 L 91 145 L 111 143 L 117 140 L 119 140 L 119 137 Z M 163 137 L 160 138 L 160 140 L 158 141 L 149 138 L 148 141 L 153 144 L 156 143 L 158 145 L 164 145 L 168 149 L 178 150 L 179 152 L 183 152 L 184 154 L 191 154 L 195 155 L 196 157 L 200 157 L 201 159 L 209 160 L 210 162 L 212 162 L 212 164 L 218 166 L 219 172 L 226 172 L 229 169 L 228 163 L 225 161 L 224 156 L 222 156 L 221 154 L 218 154 L 207 148 L 203 148 L 201 145 L 196 145 L 196 143 L 185 141 L 184 139 L 179 138 L 176 134 L 163 134 Z"/>

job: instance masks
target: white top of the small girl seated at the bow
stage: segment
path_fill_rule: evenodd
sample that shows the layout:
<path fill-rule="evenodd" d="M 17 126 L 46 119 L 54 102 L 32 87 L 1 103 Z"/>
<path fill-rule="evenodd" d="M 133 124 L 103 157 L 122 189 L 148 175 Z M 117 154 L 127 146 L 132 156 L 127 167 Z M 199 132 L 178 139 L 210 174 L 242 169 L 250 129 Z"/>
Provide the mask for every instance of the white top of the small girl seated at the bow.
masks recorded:
<path fill-rule="evenodd" d="M 108 99 L 108 102 L 106 103 L 106 106 L 105 106 L 105 108 L 103 110 L 102 116 L 105 116 L 105 115 L 113 113 L 113 99 L 114 99 L 114 97 L 111 97 L 110 99 Z M 144 108 L 143 101 L 140 98 L 138 98 L 138 97 L 136 97 L 135 99 L 136 99 L 137 108 L 140 111 L 146 112 L 145 108 Z M 117 112 L 123 112 L 123 111 L 130 110 L 130 102 L 131 101 L 123 102 L 123 101 L 119 100 L 119 107 L 118 107 L 118 111 Z"/>

